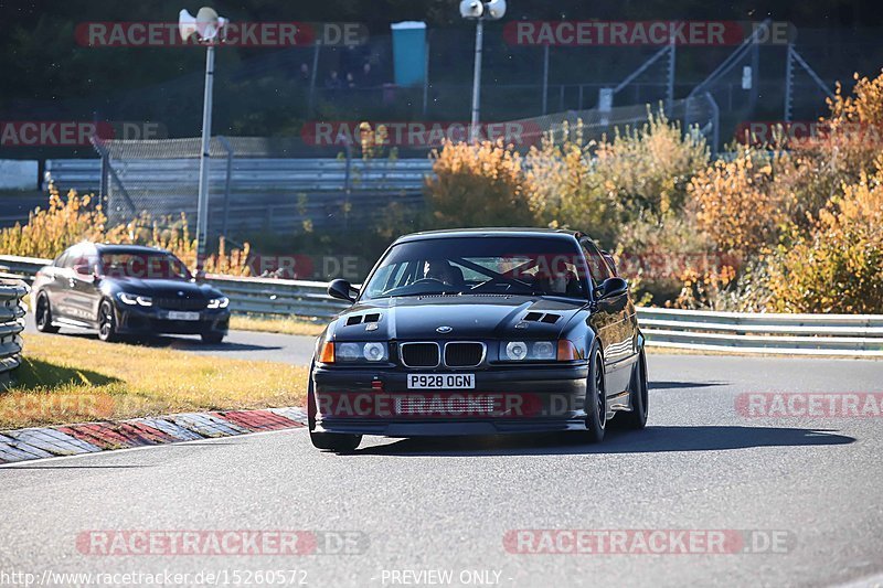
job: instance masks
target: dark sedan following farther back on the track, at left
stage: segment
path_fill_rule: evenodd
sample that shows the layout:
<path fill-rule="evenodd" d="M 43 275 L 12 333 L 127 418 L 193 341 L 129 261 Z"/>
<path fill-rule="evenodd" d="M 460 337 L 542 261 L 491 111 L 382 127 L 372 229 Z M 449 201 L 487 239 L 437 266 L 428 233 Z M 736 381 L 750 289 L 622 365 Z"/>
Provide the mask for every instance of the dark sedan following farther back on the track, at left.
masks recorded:
<path fill-rule="evenodd" d="M 125 334 L 198 334 L 220 343 L 230 300 L 198 284 L 183 261 L 164 249 L 81 243 L 34 279 L 36 328 L 97 329 L 103 341 Z"/>

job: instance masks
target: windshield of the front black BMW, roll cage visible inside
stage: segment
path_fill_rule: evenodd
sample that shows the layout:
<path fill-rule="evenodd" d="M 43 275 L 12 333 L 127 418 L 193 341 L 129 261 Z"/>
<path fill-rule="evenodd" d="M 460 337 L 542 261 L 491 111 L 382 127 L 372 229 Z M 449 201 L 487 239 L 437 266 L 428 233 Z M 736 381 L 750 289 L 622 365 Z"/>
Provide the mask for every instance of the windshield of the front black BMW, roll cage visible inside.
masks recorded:
<path fill-rule="evenodd" d="M 585 261 L 561 237 L 432 238 L 395 245 L 362 299 L 502 293 L 586 297 Z"/>

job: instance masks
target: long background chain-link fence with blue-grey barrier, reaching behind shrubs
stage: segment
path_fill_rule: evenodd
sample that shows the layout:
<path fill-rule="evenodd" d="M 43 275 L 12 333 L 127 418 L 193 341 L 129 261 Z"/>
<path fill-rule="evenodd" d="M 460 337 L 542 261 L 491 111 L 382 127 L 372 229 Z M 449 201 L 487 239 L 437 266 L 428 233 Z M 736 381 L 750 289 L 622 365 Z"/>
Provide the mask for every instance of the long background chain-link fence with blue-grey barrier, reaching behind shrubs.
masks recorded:
<path fill-rule="evenodd" d="M 482 126 L 482 137 L 526 150 L 544 136 L 555 138 L 565 125 L 581 125 L 585 140 L 613 136 L 616 129 L 639 128 L 653 111 L 680 121 L 685 132 L 717 142 L 717 110 L 710 95 L 610 109 L 568 110 Z M 422 205 L 424 179 L 432 173 L 427 150 L 445 139 L 468 136 L 467 128 L 439 126 L 438 133 L 421 128 L 422 157 L 390 157 L 397 141 L 415 130 L 386 129 L 376 152 L 362 150 L 359 130 L 336 129 L 338 157 L 295 157 L 302 139 L 225 138 L 211 141 L 209 158 L 209 236 L 244 238 L 256 233 L 291 233 L 307 228 L 349 228 L 379 222 L 391 204 Z M 376 133 L 379 129 L 372 129 Z M 401 132 L 400 132 L 401 131 Z M 353 137 L 354 136 L 354 137 Z M 339 139 L 339 140 L 338 140 Z M 100 162 L 94 162 L 99 193 L 111 225 L 147 215 L 160 227 L 180 225 L 182 214 L 193 228 L 199 191 L 200 139 L 149 141 L 95 140 Z M 79 161 L 51 161 L 52 179 L 68 185 L 89 173 Z M 65 173 L 73 174 L 71 179 Z M 93 180 L 95 181 L 95 180 Z M 88 183 L 86 181 L 86 183 Z"/>

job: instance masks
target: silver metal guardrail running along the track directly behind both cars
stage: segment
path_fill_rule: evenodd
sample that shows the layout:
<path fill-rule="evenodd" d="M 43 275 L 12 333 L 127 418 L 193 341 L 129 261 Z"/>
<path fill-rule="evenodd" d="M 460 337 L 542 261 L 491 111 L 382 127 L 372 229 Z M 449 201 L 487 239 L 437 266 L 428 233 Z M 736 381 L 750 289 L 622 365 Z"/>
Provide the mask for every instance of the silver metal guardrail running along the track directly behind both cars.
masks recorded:
<path fill-rule="evenodd" d="M 0 256 L 0 271 L 28 279 L 47 259 Z M 6 268 L 6 269 L 4 269 Z M 347 304 L 320 281 L 209 276 L 234 312 L 330 318 Z M 638 308 L 648 343 L 735 353 L 883 357 L 883 316 L 774 314 Z"/>

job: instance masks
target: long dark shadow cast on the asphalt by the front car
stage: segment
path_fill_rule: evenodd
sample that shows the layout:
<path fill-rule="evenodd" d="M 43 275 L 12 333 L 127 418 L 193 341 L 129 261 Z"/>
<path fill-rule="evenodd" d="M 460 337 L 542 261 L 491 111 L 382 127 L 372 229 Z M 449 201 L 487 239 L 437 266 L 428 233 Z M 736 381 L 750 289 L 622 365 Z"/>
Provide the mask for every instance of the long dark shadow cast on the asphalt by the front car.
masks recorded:
<path fill-rule="evenodd" d="M 579 435 L 518 435 L 485 437 L 423 437 L 365 447 L 365 456 L 549 456 L 579 453 L 659 453 L 720 451 L 755 447 L 845 445 L 852 437 L 820 429 L 779 427 L 647 427 L 642 431 L 609 430 L 600 443 L 585 443 Z"/>

